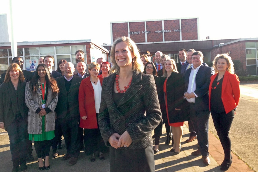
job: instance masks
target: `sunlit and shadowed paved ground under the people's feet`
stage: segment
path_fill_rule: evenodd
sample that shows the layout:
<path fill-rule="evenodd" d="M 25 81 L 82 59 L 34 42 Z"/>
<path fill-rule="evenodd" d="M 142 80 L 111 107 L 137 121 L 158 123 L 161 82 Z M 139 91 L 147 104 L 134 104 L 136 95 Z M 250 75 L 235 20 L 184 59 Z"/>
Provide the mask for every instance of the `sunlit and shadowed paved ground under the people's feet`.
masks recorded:
<path fill-rule="evenodd" d="M 251 90 L 251 91 L 250 91 Z M 257 105 L 258 105 L 258 84 L 241 85 L 241 98 L 239 108 L 236 111 L 236 116 L 230 130 L 230 138 L 232 141 L 232 156 L 233 163 L 229 168 L 231 171 L 257 171 L 258 170 L 258 137 L 257 137 Z M 163 126 L 163 135 L 160 138 L 160 152 L 154 155 L 156 171 L 158 172 L 212 172 L 220 171 L 220 164 L 224 159 L 224 153 L 220 141 L 216 136 L 216 131 L 213 126 L 212 118 L 210 117 L 210 131 L 209 131 L 209 152 L 211 164 L 205 166 L 202 162 L 201 156 L 192 156 L 191 152 L 198 149 L 197 140 L 191 143 L 185 143 L 189 138 L 188 124 L 185 122 L 183 126 L 182 148 L 178 155 L 171 156 L 172 146 L 165 145 L 166 130 Z M 153 133 L 152 133 L 153 134 Z M 34 149 L 34 147 L 33 147 Z M 89 161 L 89 156 L 85 156 L 84 152 L 80 153 L 77 164 L 68 167 L 68 161 L 61 161 L 66 153 L 65 144 L 63 140 L 63 149 L 58 150 L 59 156 L 50 160 L 51 171 L 62 172 L 108 172 L 109 171 L 109 155 L 104 153 L 105 160 L 97 159 L 95 162 Z M 50 155 L 52 150 L 50 150 Z M 35 150 L 33 155 L 36 157 Z M 9 147 L 9 138 L 6 131 L 0 133 L 0 172 L 11 171 L 11 153 Z M 39 171 L 37 161 L 28 162 L 28 172 Z"/>

